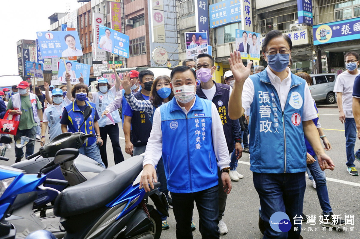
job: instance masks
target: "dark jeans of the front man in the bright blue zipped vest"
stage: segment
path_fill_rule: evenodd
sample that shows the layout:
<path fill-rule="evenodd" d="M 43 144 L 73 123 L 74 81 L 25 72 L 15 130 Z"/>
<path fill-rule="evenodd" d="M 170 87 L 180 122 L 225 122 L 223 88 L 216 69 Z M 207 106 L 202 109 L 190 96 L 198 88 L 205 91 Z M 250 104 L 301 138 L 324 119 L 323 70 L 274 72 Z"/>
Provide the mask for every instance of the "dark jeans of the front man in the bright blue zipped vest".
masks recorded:
<path fill-rule="evenodd" d="M 199 231 L 202 238 L 219 239 L 218 186 L 194 193 L 171 193 L 176 220 L 176 239 L 192 239 L 191 220 L 194 201 L 199 212 Z"/>

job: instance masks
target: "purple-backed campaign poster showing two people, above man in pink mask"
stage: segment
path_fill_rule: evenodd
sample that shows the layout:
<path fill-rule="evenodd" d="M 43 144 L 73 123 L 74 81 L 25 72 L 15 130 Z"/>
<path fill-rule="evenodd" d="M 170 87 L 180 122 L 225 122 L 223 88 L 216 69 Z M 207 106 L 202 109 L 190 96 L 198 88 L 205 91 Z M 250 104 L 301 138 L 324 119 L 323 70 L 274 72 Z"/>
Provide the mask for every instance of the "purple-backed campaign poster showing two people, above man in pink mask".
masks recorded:
<path fill-rule="evenodd" d="M 194 59 L 208 53 L 206 32 L 185 32 L 186 59 Z"/>

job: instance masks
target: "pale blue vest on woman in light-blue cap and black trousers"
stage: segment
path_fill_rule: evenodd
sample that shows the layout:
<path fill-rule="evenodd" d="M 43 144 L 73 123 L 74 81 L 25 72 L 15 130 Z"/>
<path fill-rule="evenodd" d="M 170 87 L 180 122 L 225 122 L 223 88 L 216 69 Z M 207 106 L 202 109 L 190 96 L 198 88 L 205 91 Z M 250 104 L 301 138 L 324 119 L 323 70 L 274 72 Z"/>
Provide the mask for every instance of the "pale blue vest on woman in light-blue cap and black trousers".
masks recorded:
<path fill-rule="evenodd" d="M 96 110 L 98 111 L 98 114 L 101 115 L 102 112 L 104 112 L 105 108 L 113 102 L 115 99 L 115 96 L 113 93 L 108 90 L 107 94 L 103 94 L 102 92 L 98 92 L 98 98 L 96 99 L 95 106 Z M 115 123 L 118 123 L 121 121 L 119 111 L 115 110 L 110 113 L 112 118 L 114 119 Z M 100 117 L 98 120 L 99 127 L 104 127 L 106 125 L 107 117 Z"/>

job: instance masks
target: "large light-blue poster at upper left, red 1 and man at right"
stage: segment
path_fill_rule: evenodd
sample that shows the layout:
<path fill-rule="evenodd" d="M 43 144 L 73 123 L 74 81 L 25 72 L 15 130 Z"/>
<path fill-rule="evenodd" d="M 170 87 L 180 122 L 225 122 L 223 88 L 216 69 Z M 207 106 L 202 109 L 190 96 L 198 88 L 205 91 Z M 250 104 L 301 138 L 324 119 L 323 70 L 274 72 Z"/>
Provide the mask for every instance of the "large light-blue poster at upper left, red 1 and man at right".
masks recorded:
<path fill-rule="evenodd" d="M 42 58 L 82 56 L 77 31 L 36 32 Z"/>

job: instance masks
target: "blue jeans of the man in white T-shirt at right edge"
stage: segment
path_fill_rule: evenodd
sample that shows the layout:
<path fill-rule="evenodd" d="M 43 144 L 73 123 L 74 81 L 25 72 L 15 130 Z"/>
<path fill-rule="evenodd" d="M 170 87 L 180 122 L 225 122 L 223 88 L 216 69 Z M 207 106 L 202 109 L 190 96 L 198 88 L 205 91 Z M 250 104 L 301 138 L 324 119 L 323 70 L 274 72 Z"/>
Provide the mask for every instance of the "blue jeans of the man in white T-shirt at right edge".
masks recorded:
<path fill-rule="evenodd" d="M 348 168 L 355 167 L 355 142 L 356 142 L 356 123 L 354 118 L 345 118 L 345 138 L 346 138 L 346 165 Z"/>

